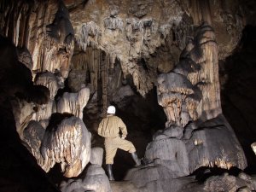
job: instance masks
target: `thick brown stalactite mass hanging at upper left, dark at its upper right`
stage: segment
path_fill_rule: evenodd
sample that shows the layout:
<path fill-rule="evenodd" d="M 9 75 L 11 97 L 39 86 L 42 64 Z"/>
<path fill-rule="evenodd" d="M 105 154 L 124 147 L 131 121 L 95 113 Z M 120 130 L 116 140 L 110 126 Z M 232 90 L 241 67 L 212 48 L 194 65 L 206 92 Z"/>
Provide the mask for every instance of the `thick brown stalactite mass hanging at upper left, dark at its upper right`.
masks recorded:
<path fill-rule="evenodd" d="M 32 26 L 38 25 L 38 22 L 44 23 L 38 27 L 38 31 L 41 31 L 41 33 L 35 33 L 32 30 L 30 44 L 27 46 L 32 53 L 33 72 L 60 73 L 61 77 L 66 79 L 73 55 L 74 32 L 67 9 L 62 3 L 58 6 L 59 8 L 55 9 L 57 12 L 49 20 L 49 25 L 45 26 L 45 21 L 39 20 L 38 15 L 35 20 L 30 20 Z M 45 9 L 46 13 L 53 11 Z M 42 16 L 44 17 L 45 15 Z"/>

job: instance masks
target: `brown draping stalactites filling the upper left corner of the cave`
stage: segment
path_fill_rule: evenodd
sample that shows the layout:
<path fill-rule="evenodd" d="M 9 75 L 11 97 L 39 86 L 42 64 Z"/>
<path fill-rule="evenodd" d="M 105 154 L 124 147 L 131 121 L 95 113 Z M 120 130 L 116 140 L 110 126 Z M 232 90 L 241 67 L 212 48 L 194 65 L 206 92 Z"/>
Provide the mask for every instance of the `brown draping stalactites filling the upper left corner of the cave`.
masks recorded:
<path fill-rule="evenodd" d="M 11 38 L 16 46 L 30 52 L 32 66 L 26 67 L 31 69 L 33 77 L 48 71 L 67 78 L 74 32 L 65 5 L 48 0 L 38 3 L 12 1 L 6 6 L 3 1 L 0 7 L 4 8 L 0 32 Z"/>

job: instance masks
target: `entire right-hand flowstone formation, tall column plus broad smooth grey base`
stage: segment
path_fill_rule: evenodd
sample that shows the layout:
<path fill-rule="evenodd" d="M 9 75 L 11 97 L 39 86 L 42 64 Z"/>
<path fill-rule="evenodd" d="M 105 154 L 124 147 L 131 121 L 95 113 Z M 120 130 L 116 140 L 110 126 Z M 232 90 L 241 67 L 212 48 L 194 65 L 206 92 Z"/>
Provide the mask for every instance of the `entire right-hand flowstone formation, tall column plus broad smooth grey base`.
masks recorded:
<path fill-rule="evenodd" d="M 221 113 L 218 48 L 211 26 L 205 23 L 198 27 L 177 66 L 170 73 L 160 74 L 157 83 L 166 128 L 157 131 L 148 143 L 145 166 L 132 169 L 125 179 L 148 191 L 168 191 L 172 186 L 178 191 L 181 181 L 177 178 L 201 167 L 246 168 L 241 145 Z M 191 182 L 189 177 L 186 182 Z M 212 191 L 215 185 L 211 185 L 205 189 Z"/>

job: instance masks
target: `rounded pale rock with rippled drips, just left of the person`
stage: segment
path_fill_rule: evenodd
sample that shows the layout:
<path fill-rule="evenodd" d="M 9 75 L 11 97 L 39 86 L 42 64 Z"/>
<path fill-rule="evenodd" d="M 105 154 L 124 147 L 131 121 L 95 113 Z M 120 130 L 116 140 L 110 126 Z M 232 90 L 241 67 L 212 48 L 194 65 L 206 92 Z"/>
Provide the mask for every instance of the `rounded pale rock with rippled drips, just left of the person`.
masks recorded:
<path fill-rule="evenodd" d="M 61 163 L 65 177 L 76 177 L 90 160 L 90 137 L 84 122 L 77 117 L 63 119 L 57 127 L 46 130 L 41 153 L 44 157 L 46 172 Z"/>

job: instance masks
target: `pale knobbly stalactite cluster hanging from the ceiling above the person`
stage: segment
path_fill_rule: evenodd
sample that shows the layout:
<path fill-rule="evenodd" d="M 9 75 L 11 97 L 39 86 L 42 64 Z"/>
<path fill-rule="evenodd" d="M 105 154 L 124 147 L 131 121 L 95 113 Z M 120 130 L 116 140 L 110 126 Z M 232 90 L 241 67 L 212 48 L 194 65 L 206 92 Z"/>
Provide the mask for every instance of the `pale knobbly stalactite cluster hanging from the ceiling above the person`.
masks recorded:
<path fill-rule="evenodd" d="M 137 58 L 145 55 L 142 52 L 147 52 L 146 55 L 149 55 L 149 52 L 154 53 L 154 49 L 160 46 L 160 42 L 153 39 L 151 35 L 151 33 L 154 33 L 154 35 L 158 34 L 157 26 L 155 26 L 153 22 L 152 18 L 143 20 L 128 18 L 126 22 L 124 22 L 119 16 L 110 15 L 104 19 L 104 33 L 100 26 L 97 26 L 94 21 L 90 21 L 80 26 L 79 32 L 77 32 L 75 38 L 79 48 L 84 51 L 90 49 L 90 47 L 102 49 L 106 55 L 109 56 L 110 68 L 113 68 L 114 61 L 118 59 L 121 63 L 124 75 L 131 74 L 138 92 L 142 96 L 145 96 L 148 90 L 153 88 L 153 84 L 146 70 L 137 65 Z M 116 38 L 118 39 L 124 34 L 127 38 L 125 46 L 131 44 L 127 49 L 122 50 L 125 47 L 119 49 L 119 41 L 106 44 L 106 42 L 112 41 L 112 36 L 117 36 Z M 149 46 L 148 44 L 151 45 Z M 128 49 L 131 50 L 128 51 Z M 130 60 L 129 57 L 135 58 L 135 60 Z"/>

